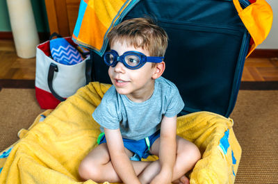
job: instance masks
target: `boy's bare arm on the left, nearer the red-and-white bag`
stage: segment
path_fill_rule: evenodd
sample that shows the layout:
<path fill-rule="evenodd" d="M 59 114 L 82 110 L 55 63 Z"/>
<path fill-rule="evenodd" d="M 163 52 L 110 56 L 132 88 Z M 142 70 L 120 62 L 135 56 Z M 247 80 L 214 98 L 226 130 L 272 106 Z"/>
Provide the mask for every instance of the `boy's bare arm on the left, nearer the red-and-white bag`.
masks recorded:
<path fill-rule="evenodd" d="M 123 183 L 140 183 L 129 157 L 124 151 L 124 143 L 120 129 L 111 130 L 104 128 L 108 150 L 111 156 L 111 162 L 117 175 Z"/>

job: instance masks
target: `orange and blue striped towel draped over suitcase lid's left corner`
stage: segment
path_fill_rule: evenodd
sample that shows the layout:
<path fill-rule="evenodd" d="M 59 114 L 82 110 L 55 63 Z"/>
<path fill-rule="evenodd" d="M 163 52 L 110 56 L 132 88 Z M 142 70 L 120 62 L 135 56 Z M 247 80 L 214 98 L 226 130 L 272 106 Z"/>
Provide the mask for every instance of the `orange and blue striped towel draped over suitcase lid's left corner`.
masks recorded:
<path fill-rule="evenodd" d="M 102 56 L 107 34 L 140 0 L 81 0 L 72 38 Z"/>

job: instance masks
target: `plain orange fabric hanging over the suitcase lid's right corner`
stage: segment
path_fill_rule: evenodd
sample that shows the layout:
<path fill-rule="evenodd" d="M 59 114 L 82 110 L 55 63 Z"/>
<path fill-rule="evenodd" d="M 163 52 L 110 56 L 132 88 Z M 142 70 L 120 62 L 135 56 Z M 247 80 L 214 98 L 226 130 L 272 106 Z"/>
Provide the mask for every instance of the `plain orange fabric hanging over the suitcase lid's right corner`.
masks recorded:
<path fill-rule="evenodd" d="M 240 19 L 254 40 L 247 58 L 268 36 L 273 21 L 272 9 L 265 0 L 256 0 L 245 9 L 241 8 L 238 0 L 233 0 L 233 2 Z"/>

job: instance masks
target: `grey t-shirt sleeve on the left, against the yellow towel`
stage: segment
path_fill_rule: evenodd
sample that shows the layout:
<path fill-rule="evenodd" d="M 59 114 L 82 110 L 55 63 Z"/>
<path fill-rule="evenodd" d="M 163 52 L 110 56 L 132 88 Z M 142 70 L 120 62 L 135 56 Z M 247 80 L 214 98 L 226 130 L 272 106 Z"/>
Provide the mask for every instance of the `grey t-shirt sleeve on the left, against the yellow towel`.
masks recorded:
<path fill-rule="evenodd" d="M 99 106 L 97 106 L 92 113 L 92 117 L 95 121 L 100 126 L 108 129 L 120 128 L 119 124 L 121 119 L 117 114 L 117 98 L 112 97 L 113 95 L 115 94 L 109 89 L 106 94 L 104 94 Z"/>

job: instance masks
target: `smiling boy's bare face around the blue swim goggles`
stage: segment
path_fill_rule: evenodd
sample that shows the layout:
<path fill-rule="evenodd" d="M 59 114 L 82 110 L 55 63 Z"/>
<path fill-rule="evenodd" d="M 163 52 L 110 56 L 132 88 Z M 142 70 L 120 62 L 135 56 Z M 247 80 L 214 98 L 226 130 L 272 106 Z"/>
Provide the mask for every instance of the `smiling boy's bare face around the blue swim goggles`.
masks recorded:
<path fill-rule="evenodd" d="M 122 56 L 126 51 L 139 51 L 149 56 L 149 52 L 142 48 L 127 46 L 125 42 L 114 42 L 111 49 L 117 51 Z M 156 67 L 152 67 L 152 62 L 146 62 L 139 69 L 128 69 L 122 62 L 117 62 L 115 67 L 109 67 L 108 74 L 113 85 L 120 94 L 132 101 L 145 101 L 152 96 L 154 91 L 154 78 Z"/>

